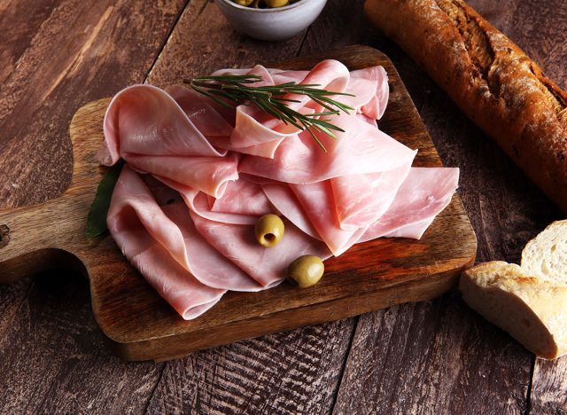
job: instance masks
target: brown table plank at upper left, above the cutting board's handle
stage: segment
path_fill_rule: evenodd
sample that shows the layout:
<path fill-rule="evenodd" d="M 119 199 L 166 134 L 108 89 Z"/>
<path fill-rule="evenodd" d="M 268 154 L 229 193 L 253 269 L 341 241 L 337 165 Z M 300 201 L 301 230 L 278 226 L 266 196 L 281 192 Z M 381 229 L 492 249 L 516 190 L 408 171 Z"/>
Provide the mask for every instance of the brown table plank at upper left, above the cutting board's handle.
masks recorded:
<path fill-rule="evenodd" d="M 67 187 L 72 166 L 67 129 L 74 112 L 141 82 L 181 5 L 69 0 L 53 9 L 0 90 L 4 207 L 50 199 Z M 130 24 L 123 26 L 125 16 Z M 21 19 L 26 25 L 26 16 Z"/>

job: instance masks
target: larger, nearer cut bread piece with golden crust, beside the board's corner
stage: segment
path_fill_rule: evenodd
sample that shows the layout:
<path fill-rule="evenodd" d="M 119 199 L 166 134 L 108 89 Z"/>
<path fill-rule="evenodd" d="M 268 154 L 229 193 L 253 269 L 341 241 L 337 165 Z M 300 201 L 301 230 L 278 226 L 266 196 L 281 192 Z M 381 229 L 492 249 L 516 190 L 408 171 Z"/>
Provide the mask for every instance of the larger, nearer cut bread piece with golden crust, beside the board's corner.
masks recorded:
<path fill-rule="evenodd" d="M 513 263 L 480 263 L 462 273 L 464 301 L 535 355 L 567 352 L 567 286 L 532 277 Z"/>

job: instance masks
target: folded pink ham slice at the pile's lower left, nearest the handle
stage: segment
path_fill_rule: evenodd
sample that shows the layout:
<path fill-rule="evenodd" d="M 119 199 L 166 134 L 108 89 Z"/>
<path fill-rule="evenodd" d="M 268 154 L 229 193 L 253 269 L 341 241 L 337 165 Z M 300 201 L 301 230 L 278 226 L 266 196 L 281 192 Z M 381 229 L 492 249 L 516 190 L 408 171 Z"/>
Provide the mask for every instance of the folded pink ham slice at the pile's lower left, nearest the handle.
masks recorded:
<path fill-rule="evenodd" d="M 201 284 L 176 261 L 184 250 L 181 232 L 128 166 L 115 186 L 107 223 L 122 254 L 183 318 L 197 317 L 226 292 Z"/>

